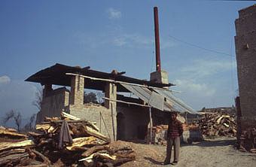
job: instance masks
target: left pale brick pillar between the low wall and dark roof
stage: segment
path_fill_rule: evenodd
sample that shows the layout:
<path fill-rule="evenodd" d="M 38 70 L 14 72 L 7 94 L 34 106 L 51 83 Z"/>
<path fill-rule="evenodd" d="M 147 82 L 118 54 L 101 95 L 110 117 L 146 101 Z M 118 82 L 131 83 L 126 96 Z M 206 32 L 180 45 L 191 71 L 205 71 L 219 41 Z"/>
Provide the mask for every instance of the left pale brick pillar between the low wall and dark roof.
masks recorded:
<path fill-rule="evenodd" d="M 75 75 L 71 79 L 71 105 L 84 105 L 84 77 Z"/>

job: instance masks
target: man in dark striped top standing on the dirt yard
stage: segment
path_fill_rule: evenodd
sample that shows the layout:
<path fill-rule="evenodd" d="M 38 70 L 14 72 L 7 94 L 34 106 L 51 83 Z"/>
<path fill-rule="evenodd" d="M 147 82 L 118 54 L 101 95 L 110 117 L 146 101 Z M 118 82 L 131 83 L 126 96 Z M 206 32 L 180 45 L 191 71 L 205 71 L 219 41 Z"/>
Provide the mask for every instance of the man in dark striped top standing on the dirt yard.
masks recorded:
<path fill-rule="evenodd" d="M 180 138 L 182 135 L 182 123 L 177 120 L 177 113 L 172 112 L 171 120 L 169 121 L 168 131 L 167 131 L 167 147 L 166 147 L 166 159 L 164 160 L 164 165 L 170 163 L 171 155 L 172 155 L 172 146 L 174 147 L 174 159 L 172 165 L 176 165 L 178 163 L 178 155 L 179 155 L 179 147 L 180 147 Z"/>

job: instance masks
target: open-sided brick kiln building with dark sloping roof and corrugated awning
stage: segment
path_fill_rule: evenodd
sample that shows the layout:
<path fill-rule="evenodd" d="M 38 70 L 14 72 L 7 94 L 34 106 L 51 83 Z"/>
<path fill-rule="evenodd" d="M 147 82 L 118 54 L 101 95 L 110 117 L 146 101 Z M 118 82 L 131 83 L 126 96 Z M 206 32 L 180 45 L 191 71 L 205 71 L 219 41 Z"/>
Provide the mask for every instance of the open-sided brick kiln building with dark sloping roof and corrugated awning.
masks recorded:
<path fill-rule="evenodd" d="M 111 140 L 130 140 L 145 139 L 148 128 L 167 124 L 169 112 L 178 111 L 175 108 L 197 113 L 170 93 L 168 88 L 173 84 L 168 83 L 166 71 L 151 73 L 151 81 L 122 74 L 61 64 L 32 74 L 26 81 L 44 85 L 37 122 L 41 122 L 46 116 L 60 117 L 61 112 L 65 111 L 75 117 L 95 122 L 100 132 Z M 52 85 L 64 87 L 53 90 Z M 84 89 L 105 93 L 104 104 L 84 104 Z M 120 93 L 133 93 L 139 98 Z"/>

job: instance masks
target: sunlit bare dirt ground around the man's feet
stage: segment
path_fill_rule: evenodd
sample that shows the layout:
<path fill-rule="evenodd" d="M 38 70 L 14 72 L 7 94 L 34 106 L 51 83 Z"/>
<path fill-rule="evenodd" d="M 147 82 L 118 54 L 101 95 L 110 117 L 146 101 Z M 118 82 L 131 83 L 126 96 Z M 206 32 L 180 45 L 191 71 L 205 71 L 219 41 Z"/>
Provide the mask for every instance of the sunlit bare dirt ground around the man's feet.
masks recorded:
<path fill-rule="evenodd" d="M 215 138 L 205 141 L 181 144 L 180 160 L 175 166 L 256 166 L 256 153 L 245 153 L 236 150 L 236 138 Z M 163 165 L 166 156 L 166 147 L 149 144 L 135 144 L 129 142 L 136 153 L 136 160 L 126 162 L 122 167 L 135 166 L 172 166 Z M 173 160 L 173 153 L 172 159 Z"/>

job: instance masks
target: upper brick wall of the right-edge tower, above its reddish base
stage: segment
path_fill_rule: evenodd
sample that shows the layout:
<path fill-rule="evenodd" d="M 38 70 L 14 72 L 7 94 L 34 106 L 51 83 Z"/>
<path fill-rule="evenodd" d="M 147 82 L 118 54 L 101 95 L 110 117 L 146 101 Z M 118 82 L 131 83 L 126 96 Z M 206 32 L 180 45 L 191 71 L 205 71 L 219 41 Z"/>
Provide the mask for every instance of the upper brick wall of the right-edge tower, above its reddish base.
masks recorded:
<path fill-rule="evenodd" d="M 256 117 L 256 5 L 239 11 L 236 61 L 242 117 Z"/>

